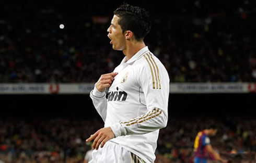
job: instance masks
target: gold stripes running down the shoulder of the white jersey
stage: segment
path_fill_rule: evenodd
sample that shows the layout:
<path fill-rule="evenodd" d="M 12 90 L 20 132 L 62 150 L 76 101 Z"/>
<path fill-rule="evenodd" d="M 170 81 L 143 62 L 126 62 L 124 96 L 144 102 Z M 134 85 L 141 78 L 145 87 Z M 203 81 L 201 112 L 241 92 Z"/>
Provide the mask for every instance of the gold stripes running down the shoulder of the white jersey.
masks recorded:
<path fill-rule="evenodd" d="M 153 80 L 153 89 L 161 89 L 161 84 L 160 84 L 160 80 L 159 80 L 159 69 L 158 66 L 154 60 L 154 58 L 152 57 L 152 54 L 147 53 L 144 55 L 144 58 L 146 59 L 149 68 L 150 68 L 150 72 L 152 75 L 152 80 Z M 154 70 L 154 72 L 153 72 Z"/>

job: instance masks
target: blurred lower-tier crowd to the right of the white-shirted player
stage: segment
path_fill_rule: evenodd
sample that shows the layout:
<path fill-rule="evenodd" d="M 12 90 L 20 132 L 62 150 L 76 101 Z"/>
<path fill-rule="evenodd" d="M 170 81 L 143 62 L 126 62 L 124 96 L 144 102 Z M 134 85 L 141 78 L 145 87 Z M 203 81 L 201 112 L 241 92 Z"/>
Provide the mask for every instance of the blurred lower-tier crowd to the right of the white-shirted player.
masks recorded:
<path fill-rule="evenodd" d="M 160 130 L 157 153 L 160 154 L 159 158 L 162 160 L 159 162 L 193 163 L 195 136 L 208 124 L 217 126 L 217 134 L 213 137 L 210 136 L 210 140 L 213 148 L 221 156 L 230 159 L 230 154 L 252 153 L 251 160 L 256 161 L 255 119 L 199 117 L 170 119 L 168 127 Z M 243 159 L 249 160 L 248 157 L 243 157 Z"/>

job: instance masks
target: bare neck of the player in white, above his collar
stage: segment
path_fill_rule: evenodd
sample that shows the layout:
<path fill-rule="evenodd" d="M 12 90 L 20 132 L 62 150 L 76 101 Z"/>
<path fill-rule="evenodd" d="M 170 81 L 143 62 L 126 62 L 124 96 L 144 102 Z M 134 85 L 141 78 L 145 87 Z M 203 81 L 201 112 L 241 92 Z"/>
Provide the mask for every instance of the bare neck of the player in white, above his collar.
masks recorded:
<path fill-rule="evenodd" d="M 126 56 L 127 60 L 131 59 L 140 49 L 145 47 L 145 43 L 142 42 L 133 42 L 127 43 L 126 48 L 123 50 L 123 54 Z"/>

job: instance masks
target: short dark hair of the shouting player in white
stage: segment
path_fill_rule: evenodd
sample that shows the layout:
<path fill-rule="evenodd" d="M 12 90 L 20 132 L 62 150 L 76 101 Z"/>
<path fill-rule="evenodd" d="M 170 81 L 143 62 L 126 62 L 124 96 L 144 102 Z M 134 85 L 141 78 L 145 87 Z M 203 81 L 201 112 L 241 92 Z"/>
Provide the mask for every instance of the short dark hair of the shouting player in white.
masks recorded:
<path fill-rule="evenodd" d="M 114 11 L 114 15 L 120 18 L 118 23 L 122 31 L 132 31 L 137 41 L 142 41 L 150 31 L 149 13 L 144 8 L 123 4 Z"/>

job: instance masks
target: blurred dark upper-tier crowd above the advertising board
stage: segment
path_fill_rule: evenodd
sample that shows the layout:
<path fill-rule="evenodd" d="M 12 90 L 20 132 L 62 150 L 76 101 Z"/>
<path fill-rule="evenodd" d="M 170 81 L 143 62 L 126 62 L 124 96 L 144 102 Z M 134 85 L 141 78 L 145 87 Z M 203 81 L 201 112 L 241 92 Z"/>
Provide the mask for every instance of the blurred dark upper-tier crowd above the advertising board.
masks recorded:
<path fill-rule="evenodd" d="M 95 82 L 120 63 L 107 37 L 118 3 L 40 3 L 0 5 L 1 83 Z M 141 6 L 153 22 L 145 43 L 171 82 L 256 81 L 255 1 L 170 3 Z"/>

